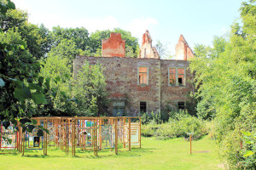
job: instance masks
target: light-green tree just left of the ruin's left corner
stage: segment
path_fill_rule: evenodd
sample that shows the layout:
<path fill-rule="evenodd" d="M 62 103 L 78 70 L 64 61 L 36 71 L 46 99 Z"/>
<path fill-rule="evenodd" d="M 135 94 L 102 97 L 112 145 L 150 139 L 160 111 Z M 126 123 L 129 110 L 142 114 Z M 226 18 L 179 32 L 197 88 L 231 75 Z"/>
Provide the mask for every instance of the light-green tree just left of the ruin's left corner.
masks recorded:
<path fill-rule="evenodd" d="M 71 103 L 73 74 L 68 59 L 49 53 L 39 75 L 50 78 L 51 91 L 45 94 L 48 102 L 38 107 L 37 116 L 74 116 Z"/>

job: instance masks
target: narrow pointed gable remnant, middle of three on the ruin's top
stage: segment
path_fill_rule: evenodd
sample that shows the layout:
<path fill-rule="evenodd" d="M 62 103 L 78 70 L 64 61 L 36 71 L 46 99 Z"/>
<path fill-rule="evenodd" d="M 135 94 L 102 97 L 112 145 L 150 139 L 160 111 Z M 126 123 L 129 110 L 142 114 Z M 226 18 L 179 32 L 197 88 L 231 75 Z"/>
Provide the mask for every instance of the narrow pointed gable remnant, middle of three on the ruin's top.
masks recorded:
<path fill-rule="evenodd" d="M 143 43 L 140 48 L 139 58 L 159 59 L 156 48 L 152 47 L 152 38 L 148 30 L 143 34 Z"/>

